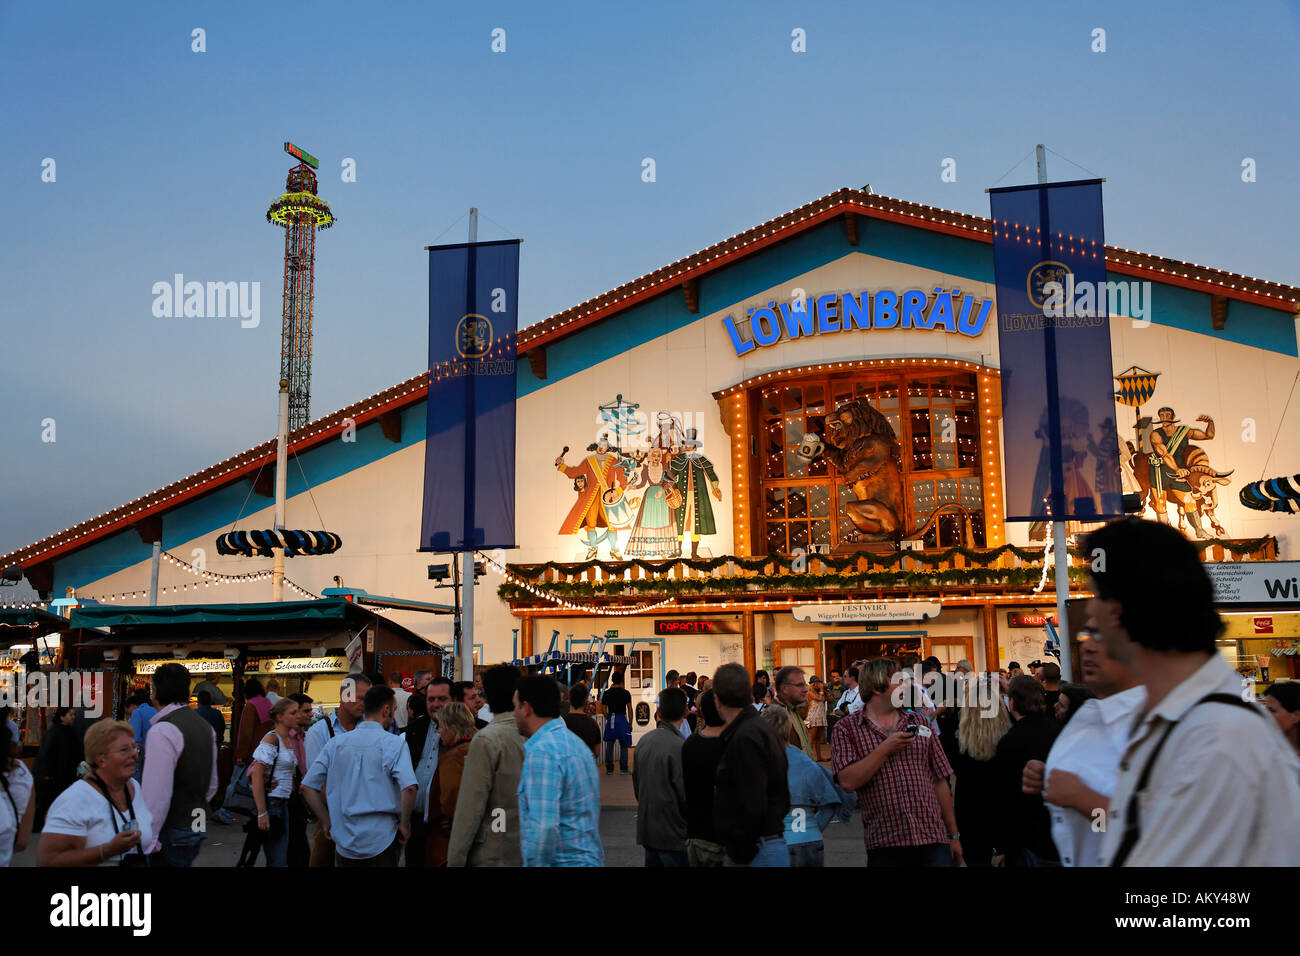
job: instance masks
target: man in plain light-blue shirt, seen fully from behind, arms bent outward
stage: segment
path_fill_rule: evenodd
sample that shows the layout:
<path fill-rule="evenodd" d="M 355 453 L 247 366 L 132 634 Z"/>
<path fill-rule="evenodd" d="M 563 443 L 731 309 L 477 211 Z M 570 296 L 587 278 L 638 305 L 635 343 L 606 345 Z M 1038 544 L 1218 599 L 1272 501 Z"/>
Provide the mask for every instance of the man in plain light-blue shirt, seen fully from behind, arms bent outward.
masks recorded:
<path fill-rule="evenodd" d="M 335 866 L 396 866 L 411 836 L 415 771 L 402 739 L 386 730 L 396 709 L 393 688 L 370 687 L 363 706 L 365 719 L 326 743 L 308 769 L 303 796 L 334 842 Z M 326 783 L 329 806 L 320 795 Z"/>

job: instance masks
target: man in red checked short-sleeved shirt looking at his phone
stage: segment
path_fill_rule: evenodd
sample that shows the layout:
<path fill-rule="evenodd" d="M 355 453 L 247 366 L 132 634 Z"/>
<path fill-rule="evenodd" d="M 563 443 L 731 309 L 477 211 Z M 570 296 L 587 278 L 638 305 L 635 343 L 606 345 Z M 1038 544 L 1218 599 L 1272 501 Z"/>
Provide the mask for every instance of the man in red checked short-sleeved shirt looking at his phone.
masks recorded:
<path fill-rule="evenodd" d="M 898 706 L 906 682 L 889 658 L 862 669 L 859 687 L 871 696 L 835 724 L 831 762 L 840 786 L 858 791 L 867 866 L 959 866 L 953 770 L 928 721 Z"/>

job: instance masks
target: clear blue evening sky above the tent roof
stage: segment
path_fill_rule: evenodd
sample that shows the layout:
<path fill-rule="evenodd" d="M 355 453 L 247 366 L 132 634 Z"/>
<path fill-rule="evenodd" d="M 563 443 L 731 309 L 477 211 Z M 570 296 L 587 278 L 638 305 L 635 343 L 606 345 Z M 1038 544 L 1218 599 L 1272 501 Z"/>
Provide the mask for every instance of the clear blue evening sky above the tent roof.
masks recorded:
<path fill-rule="evenodd" d="M 313 415 L 421 371 L 422 246 L 471 206 L 530 324 L 841 186 L 987 215 L 1043 142 L 1112 243 L 1300 285 L 1295 3 L 295 9 L 0 4 L 0 553 L 274 434 L 286 139 L 339 217 Z M 155 317 L 177 272 L 260 282 L 260 326 Z"/>

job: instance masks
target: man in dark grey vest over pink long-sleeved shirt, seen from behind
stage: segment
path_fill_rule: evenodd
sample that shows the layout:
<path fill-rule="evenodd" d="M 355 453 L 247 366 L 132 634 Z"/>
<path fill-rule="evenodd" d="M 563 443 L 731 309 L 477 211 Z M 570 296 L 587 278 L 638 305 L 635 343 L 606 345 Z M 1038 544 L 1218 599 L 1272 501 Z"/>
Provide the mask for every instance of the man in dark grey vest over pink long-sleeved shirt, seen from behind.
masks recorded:
<path fill-rule="evenodd" d="M 157 713 L 140 787 L 153 832 L 140 834 L 140 845 L 168 866 L 190 866 L 207 831 L 208 801 L 217 792 L 217 737 L 190 709 L 190 671 L 183 665 L 169 662 L 153 671 L 153 702 Z"/>

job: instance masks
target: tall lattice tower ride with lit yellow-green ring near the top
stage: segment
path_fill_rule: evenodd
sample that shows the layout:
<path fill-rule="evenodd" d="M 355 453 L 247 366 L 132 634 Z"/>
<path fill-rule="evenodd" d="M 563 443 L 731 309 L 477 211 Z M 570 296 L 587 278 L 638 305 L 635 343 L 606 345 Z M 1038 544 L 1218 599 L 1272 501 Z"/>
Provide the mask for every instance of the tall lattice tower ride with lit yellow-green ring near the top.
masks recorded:
<path fill-rule="evenodd" d="M 311 419 L 312 307 L 316 294 L 316 230 L 335 222 L 329 203 L 316 195 L 320 161 L 292 143 L 285 152 L 300 163 L 289 170 L 285 194 L 266 209 L 266 221 L 285 230 L 285 311 L 280 377 L 289 382 L 289 431 Z"/>

